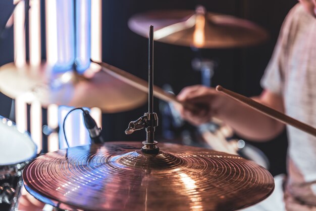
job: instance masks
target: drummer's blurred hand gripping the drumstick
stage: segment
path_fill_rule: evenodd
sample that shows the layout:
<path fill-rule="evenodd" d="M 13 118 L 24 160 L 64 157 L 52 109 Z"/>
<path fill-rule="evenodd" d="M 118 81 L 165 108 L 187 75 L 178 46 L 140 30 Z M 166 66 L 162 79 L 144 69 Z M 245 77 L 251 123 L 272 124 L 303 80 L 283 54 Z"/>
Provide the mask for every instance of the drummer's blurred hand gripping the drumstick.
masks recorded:
<path fill-rule="evenodd" d="M 210 118 L 219 112 L 224 96 L 213 88 L 195 85 L 184 88 L 177 96 L 183 103 L 195 105 L 196 109 L 175 105 L 182 118 L 194 125 L 210 121 Z"/>

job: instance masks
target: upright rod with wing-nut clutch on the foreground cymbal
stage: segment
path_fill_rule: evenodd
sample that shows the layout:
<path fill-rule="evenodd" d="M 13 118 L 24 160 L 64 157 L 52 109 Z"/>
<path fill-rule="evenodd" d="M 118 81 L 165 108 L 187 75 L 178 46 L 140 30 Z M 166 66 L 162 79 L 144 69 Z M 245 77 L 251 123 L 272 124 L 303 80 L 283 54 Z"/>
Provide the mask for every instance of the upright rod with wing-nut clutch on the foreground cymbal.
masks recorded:
<path fill-rule="evenodd" d="M 155 127 L 158 126 L 158 116 L 153 112 L 153 26 L 149 27 L 148 51 L 148 112 L 135 121 L 131 121 L 125 134 L 146 128 L 146 141 L 143 141 L 141 151 L 145 154 L 158 154 L 159 148 L 154 141 Z"/>

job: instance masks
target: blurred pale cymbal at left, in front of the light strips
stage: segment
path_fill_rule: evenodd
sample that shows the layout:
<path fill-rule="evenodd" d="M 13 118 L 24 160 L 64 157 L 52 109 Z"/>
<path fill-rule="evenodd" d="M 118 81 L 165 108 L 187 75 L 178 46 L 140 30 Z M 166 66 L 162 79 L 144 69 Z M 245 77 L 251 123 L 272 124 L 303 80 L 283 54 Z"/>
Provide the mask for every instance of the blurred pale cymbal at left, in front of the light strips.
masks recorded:
<path fill-rule="evenodd" d="M 146 93 L 99 71 L 98 65 L 93 67 L 79 76 L 73 72 L 52 74 L 46 64 L 18 68 L 9 63 L 0 67 L 0 91 L 13 99 L 25 96 L 27 103 L 38 100 L 43 107 L 99 107 L 107 113 L 131 110 L 146 102 Z"/>

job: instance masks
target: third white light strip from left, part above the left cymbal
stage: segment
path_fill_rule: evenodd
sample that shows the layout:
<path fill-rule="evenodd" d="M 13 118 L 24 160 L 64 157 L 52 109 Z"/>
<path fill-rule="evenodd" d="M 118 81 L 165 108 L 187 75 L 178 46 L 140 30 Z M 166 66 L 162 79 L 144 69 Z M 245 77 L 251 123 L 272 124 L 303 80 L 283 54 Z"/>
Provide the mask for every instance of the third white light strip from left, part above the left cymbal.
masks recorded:
<path fill-rule="evenodd" d="M 57 62 L 57 11 L 56 1 L 45 1 L 46 13 L 46 62 L 55 65 Z"/>

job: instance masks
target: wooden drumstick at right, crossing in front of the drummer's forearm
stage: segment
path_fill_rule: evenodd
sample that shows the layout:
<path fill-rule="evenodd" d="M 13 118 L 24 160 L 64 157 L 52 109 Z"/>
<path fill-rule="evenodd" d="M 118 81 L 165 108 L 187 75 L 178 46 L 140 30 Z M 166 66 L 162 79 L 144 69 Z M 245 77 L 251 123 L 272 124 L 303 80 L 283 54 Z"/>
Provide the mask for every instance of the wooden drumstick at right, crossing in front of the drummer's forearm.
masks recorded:
<path fill-rule="evenodd" d="M 273 108 L 270 108 L 268 106 L 265 106 L 265 105 L 262 105 L 261 103 L 258 103 L 250 98 L 247 98 L 243 95 L 240 95 L 240 94 L 237 94 L 235 92 L 232 92 L 230 90 L 227 90 L 227 89 L 224 89 L 222 86 L 217 86 L 216 87 L 216 90 L 218 92 L 222 92 L 224 93 L 225 95 L 267 115 L 267 116 L 270 116 L 271 118 L 274 118 L 282 123 L 285 123 L 285 124 L 289 124 L 289 125 L 292 125 L 294 126 L 295 128 L 298 128 L 302 131 L 305 131 L 306 133 L 309 133 L 313 136 L 316 136 L 316 129 L 313 128 L 312 126 L 308 125 L 308 124 L 305 124 L 301 121 L 298 121 L 290 116 L 287 116 Z"/>

